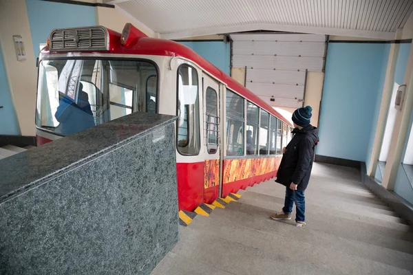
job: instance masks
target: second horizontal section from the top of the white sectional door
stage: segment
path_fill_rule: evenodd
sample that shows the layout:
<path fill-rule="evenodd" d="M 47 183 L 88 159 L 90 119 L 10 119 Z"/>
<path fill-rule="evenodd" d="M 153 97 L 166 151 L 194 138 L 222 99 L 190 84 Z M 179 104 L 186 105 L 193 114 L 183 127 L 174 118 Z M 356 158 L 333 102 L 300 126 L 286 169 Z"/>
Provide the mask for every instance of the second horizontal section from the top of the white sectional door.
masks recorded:
<path fill-rule="evenodd" d="M 277 56 L 324 56 L 323 42 L 236 41 L 233 54 Z"/>

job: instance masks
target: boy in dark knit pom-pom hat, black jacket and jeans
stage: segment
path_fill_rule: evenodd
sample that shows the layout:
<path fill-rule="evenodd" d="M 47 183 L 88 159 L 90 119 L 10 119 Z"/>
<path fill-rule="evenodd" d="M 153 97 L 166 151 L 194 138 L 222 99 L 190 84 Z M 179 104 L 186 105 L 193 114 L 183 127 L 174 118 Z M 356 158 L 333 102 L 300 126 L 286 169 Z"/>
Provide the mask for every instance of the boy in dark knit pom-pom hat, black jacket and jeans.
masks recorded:
<path fill-rule="evenodd" d="M 282 211 L 271 216 L 271 219 L 275 220 L 291 219 L 295 202 L 297 210 L 295 225 L 299 228 L 306 225 L 304 190 L 310 180 L 315 146 L 319 141 L 318 129 L 310 124 L 311 111 L 313 109 L 307 106 L 293 113 L 294 137 L 286 147 L 282 148 L 284 155 L 279 164 L 277 179 L 275 179 L 279 184 L 286 186 L 286 199 Z"/>

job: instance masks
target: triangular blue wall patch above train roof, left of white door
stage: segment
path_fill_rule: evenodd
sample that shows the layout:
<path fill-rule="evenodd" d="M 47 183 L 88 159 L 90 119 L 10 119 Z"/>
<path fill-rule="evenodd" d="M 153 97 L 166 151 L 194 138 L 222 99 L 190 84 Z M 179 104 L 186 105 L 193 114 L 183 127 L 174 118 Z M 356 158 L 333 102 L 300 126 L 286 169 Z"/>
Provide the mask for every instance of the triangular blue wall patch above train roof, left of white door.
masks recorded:
<path fill-rule="evenodd" d="M 190 47 L 197 54 L 207 59 L 225 74 L 231 72 L 231 44 L 224 41 L 184 41 L 180 42 Z"/>

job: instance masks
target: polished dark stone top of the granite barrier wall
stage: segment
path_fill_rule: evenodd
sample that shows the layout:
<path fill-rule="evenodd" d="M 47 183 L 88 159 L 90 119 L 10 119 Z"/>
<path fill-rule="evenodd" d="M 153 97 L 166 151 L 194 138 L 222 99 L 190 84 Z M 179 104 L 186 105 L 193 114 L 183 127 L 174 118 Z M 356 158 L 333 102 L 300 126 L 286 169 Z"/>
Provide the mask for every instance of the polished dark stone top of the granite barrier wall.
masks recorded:
<path fill-rule="evenodd" d="M 0 204 L 174 120 L 171 115 L 132 113 L 0 159 Z"/>

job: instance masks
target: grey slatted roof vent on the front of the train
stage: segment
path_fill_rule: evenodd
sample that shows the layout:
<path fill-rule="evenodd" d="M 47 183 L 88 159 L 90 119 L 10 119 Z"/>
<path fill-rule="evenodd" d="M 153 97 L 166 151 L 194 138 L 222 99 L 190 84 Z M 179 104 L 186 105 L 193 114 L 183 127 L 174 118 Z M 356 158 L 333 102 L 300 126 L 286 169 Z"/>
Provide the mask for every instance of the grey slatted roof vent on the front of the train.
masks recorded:
<path fill-rule="evenodd" d="M 109 34 L 102 26 L 52 30 L 50 51 L 107 51 Z"/>

